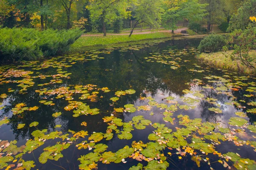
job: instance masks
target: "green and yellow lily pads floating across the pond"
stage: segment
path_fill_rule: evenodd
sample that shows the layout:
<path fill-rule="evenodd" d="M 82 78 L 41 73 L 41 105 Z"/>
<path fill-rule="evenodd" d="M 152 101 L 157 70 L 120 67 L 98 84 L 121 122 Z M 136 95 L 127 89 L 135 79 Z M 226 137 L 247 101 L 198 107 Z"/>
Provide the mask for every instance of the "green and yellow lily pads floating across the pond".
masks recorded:
<path fill-rule="evenodd" d="M 149 44 L 154 45 L 154 43 Z M 142 46 L 123 47 L 119 51 L 139 50 Z M 43 96 L 44 100 L 40 100 L 38 105 L 27 107 L 26 103 L 18 103 L 12 108 L 12 114 L 18 115 L 17 119 L 23 119 L 30 111 L 36 111 L 41 105 L 53 106 L 53 99 L 67 101 L 68 105 L 64 107 L 65 111 L 70 111 L 73 117 L 81 115 L 97 115 L 101 111 L 98 108 L 91 108 L 90 102 L 96 102 L 103 97 L 105 93 L 111 92 L 107 87 L 98 87 L 97 85 L 68 85 L 59 88 L 49 89 L 47 85 L 62 83 L 62 79 L 70 79 L 70 73 L 63 71 L 64 68 L 71 67 L 79 61 L 88 61 L 94 59 L 104 59 L 99 57 L 100 54 L 109 54 L 116 48 L 109 48 L 103 51 L 88 51 L 86 55 L 66 55 L 64 57 L 56 57 L 45 60 L 43 62 L 24 62 L 23 65 L 2 66 L 0 67 L 0 85 L 7 83 L 17 83 L 21 89 L 8 89 L 7 94 L 18 91 L 20 94 L 26 93 L 26 90 L 35 85 L 33 79 L 52 79 L 44 84 L 38 84 L 36 94 Z M 186 56 L 194 54 L 196 50 L 166 50 L 162 54 L 152 53 L 151 57 L 146 57 L 147 62 L 160 62 L 165 65 L 172 65 L 171 68 L 176 70 L 180 68 L 180 62 L 189 62 L 182 60 L 180 55 Z M 56 68 L 56 72 L 50 75 L 37 73 L 37 70 L 47 69 L 49 67 Z M 201 66 L 195 65 L 200 68 Z M 24 69 L 23 69 L 24 68 Z M 33 71 L 26 71 L 26 69 Z M 196 71 L 190 69 L 189 71 Z M 63 132 L 61 125 L 55 126 L 55 131 L 49 132 L 47 129 L 37 129 L 40 122 L 32 122 L 29 125 L 20 123 L 17 129 L 36 128 L 24 145 L 18 146 L 17 141 L 2 141 L 0 140 L 0 169 L 17 169 L 30 170 L 36 167 L 35 161 L 24 160 L 24 155 L 33 154 L 32 152 L 41 148 L 43 152 L 37 158 L 41 164 L 47 163 L 49 160 L 58 161 L 63 158 L 62 151 L 69 147 L 76 147 L 78 150 L 87 150 L 86 155 L 78 158 L 80 161 L 80 170 L 93 170 L 98 167 L 99 162 L 102 164 L 110 163 L 126 163 L 130 160 L 138 161 L 137 166 L 132 166 L 130 170 L 158 170 L 167 169 L 170 164 L 175 164 L 173 158 L 177 157 L 182 160 L 190 158 L 195 161 L 195 164 L 200 167 L 202 165 L 212 168 L 212 164 L 222 164 L 224 168 L 231 169 L 235 167 L 238 170 L 253 170 L 256 169 L 256 161 L 244 158 L 239 153 L 227 152 L 221 153 L 217 151 L 218 145 L 224 142 L 233 144 L 236 147 L 250 147 L 253 152 L 256 152 L 256 122 L 248 122 L 248 114 L 255 114 L 256 106 L 256 83 L 247 82 L 249 77 L 236 77 L 230 73 L 222 77 L 214 75 L 206 75 L 202 80 L 193 79 L 190 83 L 191 87 L 200 87 L 197 89 L 185 89 L 184 95 L 178 97 L 166 96 L 162 102 L 157 102 L 152 96 L 140 96 L 138 100 L 143 102 L 143 105 L 126 104 L 120 106 L 117 104 L 119 99 L 126 95 L 136 93 L 133 89 L 124 91 L 115 91 L 114 96 L 109 98 L 112 108 L 108 111 L 108 115 L 102 116 L 103 122 L 107 125 L 105 133 L 88 132 L 85 130 L 73 131 L 68 130 Z M 245 91 L 245 99 L 237 100 L 233 92 Z M 182 114 L 185 111 L 195 110 L 201 102 L 207 102 L 212 105 L 208 108 L 214 114 L 223 114 L 223 103 L 214 97 L 206 96 L 207 92 L 216 95 L 226 95 L 229 97 L 229 102 L 224 105 L 231 105 L 238 108 L 238 112 L 230 117 L 229 122 L 205 122 L 203 119 L 190 119 L 188 115 Z M 3 100 L 8 99 L 6 93 L 0 94 Z M 78 95 L 79 101 L 75 101 L 75 96 Z M 250 99 L 250 102 L 246 102 Z M 243 105 L 241 105 L 243 103 Z M 246 105 L 246 106 L 244 106 Z M 0 103 L 0 110 L 3 110 L 4 104 Z M 247 109 L 250 108 L 250 109 Z M 162 119 L 165 123 L 152 122 L 145 119 L 143 114 L 153 116 L 154 111 L 160 111 L 163 115 Z M 54 112 L 54 111 L 53 111 Z M 61 112 L 52 112 L 52 116 L 58 119 Z M 119 114 L 135 114 L 131 121 L 124 122 L 119 118 Z M 116 114 L 117 113 L 117 114 Z M 118 114 L 119 113 L 119 114 Z M 36 114 L 36 113 L 35 113 Z M 101 114 L 102 115 L 102 114 Z M 0 120 L 0 126 L 9 124 L 12 120 L 4 117 Z M 82 122 L 81 126 L 86 127 L 87 122 Z M 175 128 L 170 128 L 175 126 Z M 132 141 L 131 145 L 125 145 L 116 152 L 108 149 L 105 141 L 109 141 L 116 136 L 120 140 L 133 139 L 134 130 L 144 130 L 151 128 L 153 131 L 148 134 L 148 141 L 143 142 Z M 245 134 L 251 135 L 253 139 L 244 139 Z M 58 141 L 54 145 L 44 147 L 47 141 Z M 44 148 L 43 148 L 44 147 Z M 256 154 L 256 153 L 255 153 Z M 217 160 L 217 161 L 216 161 Z"/>

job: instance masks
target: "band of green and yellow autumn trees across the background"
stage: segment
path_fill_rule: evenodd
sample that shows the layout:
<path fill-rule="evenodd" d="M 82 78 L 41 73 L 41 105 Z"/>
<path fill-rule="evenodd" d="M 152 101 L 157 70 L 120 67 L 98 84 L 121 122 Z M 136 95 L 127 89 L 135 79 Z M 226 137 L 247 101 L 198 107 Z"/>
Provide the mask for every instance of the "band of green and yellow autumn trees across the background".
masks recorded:
<path fill-rule="evenodd" d="M 36 29 L 81 28 L 84 32 L 120 32 L 122 29 L 159 28 L 171 30 L 177 23 L 193 23 L 211 31 L 213 25 L 235 20 L 246 26 L 255 0 L 1 0 L 0 25 Z M 243 6 L 241 10 L 238 8 Z M 234 25 L 234 26 L 233 26 Z M 199 30 L 204 32 L 206 29 Z M 195 31 L 195 30 L 194 30 Z M 195 31 L 195 32 L 197 32 Z"/>

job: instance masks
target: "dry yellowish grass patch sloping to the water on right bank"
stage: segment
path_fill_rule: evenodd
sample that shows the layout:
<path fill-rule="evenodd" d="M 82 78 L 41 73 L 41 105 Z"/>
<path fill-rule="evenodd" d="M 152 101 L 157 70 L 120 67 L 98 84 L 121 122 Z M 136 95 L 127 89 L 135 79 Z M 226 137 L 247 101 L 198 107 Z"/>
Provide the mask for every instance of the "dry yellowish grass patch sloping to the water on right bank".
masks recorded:
<path fill-rule="evenodd" d="M 256 55 L 256 52 L 252 52 L 251 55 Z M 233 71 L 241 71 L 245 74 L 256 74 L 255 69 L 247 68 L 245 65 L 241 64 L 241 61 L 234 61 L 230 59 L 223 51 L 215 53 L 201 53 L 197 56 L 209 65 L 214 65 L 218 68 L 224 68 Z M 256 63 L 253 63 L 256 67 Z"/>

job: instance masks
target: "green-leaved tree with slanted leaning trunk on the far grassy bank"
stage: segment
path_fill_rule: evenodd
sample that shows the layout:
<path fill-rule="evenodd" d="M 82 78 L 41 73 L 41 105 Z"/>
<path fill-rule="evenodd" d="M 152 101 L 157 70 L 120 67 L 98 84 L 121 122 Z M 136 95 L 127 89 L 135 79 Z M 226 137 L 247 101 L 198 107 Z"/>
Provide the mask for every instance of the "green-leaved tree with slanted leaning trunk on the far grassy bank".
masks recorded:
<path fill-rule="evenodd" d="M 132 10 L 136 23 L 132 27 L 129 37 L 131 37 L 134 28 L 141 23 L 147 23 L 151 27 L 159 27 L 163 14 L 162 4 L 163 0 L 135 0 Z"/>

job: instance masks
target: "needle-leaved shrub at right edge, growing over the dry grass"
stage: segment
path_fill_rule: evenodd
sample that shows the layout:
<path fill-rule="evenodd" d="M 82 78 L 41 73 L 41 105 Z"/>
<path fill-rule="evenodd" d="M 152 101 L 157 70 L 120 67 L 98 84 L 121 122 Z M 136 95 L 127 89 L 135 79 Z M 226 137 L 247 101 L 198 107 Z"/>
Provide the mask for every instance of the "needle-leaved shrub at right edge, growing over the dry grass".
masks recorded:
<path fill-rule="evenodd" d="M 230 45 L 225 46 L 224 50 L 227 52 L 229 48 L 233 49 L 231 54 L 227 53 L 231 59 L 239 60 L 248 68 L 255 69 L 253 63 L 256 62 L 256 55 L 251 52 L 256 50 L 256 27 L 249 24 L 244 31 L 241 29 L 233 31 L 230 33 L 228 43 Z"/>

